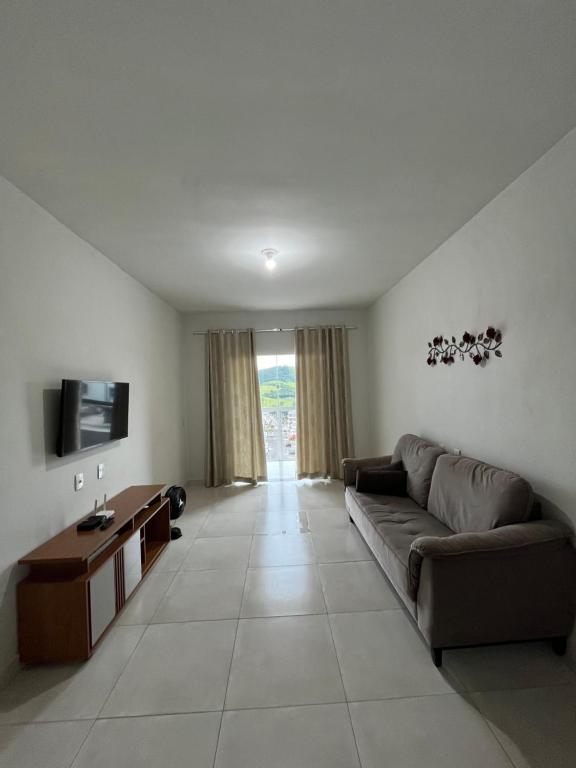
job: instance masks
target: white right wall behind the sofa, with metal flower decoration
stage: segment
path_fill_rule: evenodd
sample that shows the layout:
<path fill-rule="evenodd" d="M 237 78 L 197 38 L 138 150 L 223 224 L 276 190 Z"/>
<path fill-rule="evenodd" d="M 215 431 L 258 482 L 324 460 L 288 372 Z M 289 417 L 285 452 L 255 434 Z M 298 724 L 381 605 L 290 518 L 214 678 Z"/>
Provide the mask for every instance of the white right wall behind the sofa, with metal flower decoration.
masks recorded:
<path fill-rule="evenodd" d="M 576 524 L 576 130 L 371 310 L 375 447 L 415 432 L 524 475 Z M 503 358 L 426 365 L 488 325 Z"/>

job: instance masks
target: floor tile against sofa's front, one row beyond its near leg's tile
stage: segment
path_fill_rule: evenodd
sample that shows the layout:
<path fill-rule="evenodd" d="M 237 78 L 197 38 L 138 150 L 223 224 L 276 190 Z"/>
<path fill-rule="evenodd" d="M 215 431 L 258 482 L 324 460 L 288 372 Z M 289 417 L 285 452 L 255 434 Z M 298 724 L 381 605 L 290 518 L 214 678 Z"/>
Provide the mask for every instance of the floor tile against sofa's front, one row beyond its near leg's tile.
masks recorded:
<path fill-rule="evenodd" d="M 398 609 L 392 588 L 373 562 L 323 563 L 318 566 L 330 613 Z"/>

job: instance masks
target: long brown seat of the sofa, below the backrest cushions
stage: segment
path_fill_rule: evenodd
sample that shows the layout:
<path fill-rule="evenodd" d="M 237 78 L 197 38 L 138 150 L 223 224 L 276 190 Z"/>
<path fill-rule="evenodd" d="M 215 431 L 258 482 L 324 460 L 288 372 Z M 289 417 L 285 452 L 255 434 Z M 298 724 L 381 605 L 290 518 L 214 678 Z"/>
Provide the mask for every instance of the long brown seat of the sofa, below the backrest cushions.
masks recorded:
<path fill-rule="evenodd" d="M 422 509 L 408 496 L 380 496 L 346 491 L 362 510 L 369 527 L 383 544 L 380 564 L 406 601 L 408 561 L 412 542 L 420 536 L 452 536 L 453 531 Z"/>

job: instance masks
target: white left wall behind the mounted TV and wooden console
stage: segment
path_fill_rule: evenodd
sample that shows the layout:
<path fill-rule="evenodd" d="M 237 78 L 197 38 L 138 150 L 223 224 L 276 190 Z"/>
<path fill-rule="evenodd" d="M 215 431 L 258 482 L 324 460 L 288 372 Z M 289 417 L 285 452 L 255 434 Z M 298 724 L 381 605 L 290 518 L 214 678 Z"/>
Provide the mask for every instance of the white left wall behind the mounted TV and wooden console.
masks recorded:
<path fill-rule="evenodd" d="M 183 480 L 181 341 L 177 312 L 0 177 L 0 678 L 16 658 L 18 558 L 104 492 Z M 128 381 L 129 437 L 57 458 L 62 378 Z"/>

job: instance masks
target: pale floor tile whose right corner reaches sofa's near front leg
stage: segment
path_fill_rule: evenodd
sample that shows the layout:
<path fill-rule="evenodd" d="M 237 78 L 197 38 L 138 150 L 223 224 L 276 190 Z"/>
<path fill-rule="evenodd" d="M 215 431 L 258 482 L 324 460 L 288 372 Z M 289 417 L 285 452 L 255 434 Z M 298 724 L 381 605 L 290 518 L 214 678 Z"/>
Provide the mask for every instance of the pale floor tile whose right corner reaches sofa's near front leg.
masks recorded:
<path fill-rule="evenodd" d="M 330 615 L 350 701 L 450 693 L 402 611 Z"/>

